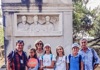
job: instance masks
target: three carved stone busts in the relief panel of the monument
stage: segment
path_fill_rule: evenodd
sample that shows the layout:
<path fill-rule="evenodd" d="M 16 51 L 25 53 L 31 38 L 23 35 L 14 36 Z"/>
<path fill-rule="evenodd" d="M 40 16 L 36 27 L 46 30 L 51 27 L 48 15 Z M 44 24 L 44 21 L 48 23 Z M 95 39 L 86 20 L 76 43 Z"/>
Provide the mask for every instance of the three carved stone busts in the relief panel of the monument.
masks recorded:
<path fill-rule="evenodd" d="M 50 21 L 50 16 L 45 16 L 45 22 L 40 23 L 39 17 L 35 15 L 33 22 L 27 22 L 26 16 L 22 16 L 22 21 L 17 24 L 19 31 L 47 32 L 54 30 L 54 24 Z"/>

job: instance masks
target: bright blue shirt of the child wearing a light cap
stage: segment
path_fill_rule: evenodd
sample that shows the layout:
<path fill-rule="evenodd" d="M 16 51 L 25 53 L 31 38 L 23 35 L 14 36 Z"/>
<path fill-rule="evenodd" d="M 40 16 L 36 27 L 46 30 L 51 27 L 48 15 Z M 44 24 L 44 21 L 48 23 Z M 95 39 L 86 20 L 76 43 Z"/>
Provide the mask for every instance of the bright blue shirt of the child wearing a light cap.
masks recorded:
<path fill-rule="evenodd" d="M 80 61 L 82 61 L 82 59 Z M 69 59 L 69 56 L 68 56 L 67 63 L 70 63 L 69 64 L 69 70 L 80 70 L 79 54 L 77 56 L 73 56 L 71 54 L 70 59 Z"/>

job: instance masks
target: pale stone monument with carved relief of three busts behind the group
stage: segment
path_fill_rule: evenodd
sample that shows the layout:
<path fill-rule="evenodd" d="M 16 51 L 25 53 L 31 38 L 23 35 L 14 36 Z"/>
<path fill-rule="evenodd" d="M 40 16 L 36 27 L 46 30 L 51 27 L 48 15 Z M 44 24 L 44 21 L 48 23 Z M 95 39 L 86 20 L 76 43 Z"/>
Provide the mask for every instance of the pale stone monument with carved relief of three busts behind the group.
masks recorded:
<path fill-rule="evenodd" d="M 72 44 L 72 1 L 43 0 L 39 12 L 35 0 L 2 0 L 6 55 L 17 40 L 25 42 L 24 50 L 34 47 L 36 40 L 50 43 L 52 52 L 62 45 L 69 54 Z M 28 2 L 27 2 L 28 1 Z"/>

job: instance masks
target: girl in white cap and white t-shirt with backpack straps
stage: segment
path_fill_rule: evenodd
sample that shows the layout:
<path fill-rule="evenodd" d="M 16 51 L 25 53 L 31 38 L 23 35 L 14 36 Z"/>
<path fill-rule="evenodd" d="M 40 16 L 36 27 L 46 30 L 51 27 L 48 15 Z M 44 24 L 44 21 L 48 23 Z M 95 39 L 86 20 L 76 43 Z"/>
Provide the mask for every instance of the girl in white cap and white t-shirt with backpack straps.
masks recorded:
<path fill-rule="evenodd" d="M 54 70 L 55 56 L 51 53 L 51 46 L 46 44 L 44 46 L 45 53 L 40 57 L 41 69 Z"/>

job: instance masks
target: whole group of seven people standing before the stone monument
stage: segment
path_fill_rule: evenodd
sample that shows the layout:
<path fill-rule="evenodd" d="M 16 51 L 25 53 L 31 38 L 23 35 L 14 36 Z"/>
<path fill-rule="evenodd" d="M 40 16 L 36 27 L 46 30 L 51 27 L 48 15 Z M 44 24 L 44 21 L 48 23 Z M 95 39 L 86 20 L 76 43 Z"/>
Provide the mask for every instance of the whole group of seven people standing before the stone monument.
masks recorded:
<path fill-rule="evenodd" d="M 68 56 L 63 46 L 56 47 L 55 56 L 51 45 L 42 40 L 36 41 L 35 47 L 27 56 L 23 51 L 24 41 L 18 40 L 16 49 L 7 56 L 7 70 L 94 70 L 100 64 L 96 51 L 87 47 L 86 39 L 81 39 L 80 45 L 73 43 L 72 53 Z"/>

